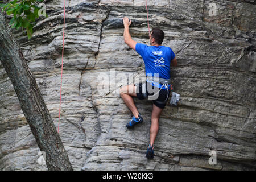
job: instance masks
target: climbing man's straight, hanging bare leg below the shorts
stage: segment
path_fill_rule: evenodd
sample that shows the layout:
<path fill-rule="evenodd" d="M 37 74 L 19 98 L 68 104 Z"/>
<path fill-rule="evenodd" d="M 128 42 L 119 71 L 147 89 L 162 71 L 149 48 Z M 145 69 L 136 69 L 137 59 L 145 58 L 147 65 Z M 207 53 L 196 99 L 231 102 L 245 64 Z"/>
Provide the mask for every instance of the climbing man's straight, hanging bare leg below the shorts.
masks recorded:
<path fill-rule="evenodd" d="M 160 109 L 153 104 L 152 115 L 151 115 L 151 127 L 150 127 L 150 146 L 154 145 L 156 135 L 159 130 L 159 118 L 163 109 Z M 154 148 L 154 147 L 153 147 Z"/>

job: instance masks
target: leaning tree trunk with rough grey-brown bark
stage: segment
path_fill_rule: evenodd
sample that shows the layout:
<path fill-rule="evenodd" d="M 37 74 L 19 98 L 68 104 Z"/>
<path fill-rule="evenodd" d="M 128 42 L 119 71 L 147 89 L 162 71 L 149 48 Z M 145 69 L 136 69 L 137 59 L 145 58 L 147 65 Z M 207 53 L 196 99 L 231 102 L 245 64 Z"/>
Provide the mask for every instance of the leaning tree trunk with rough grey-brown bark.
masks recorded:
<path fill-rule="evenodd" d="M 18 43 L 0 13 L 0 60 L 13 83 L 20 106 L 41 151 L 46 152 L 49 170 L 72 170 L 68 154 L 44 103 Z"/>

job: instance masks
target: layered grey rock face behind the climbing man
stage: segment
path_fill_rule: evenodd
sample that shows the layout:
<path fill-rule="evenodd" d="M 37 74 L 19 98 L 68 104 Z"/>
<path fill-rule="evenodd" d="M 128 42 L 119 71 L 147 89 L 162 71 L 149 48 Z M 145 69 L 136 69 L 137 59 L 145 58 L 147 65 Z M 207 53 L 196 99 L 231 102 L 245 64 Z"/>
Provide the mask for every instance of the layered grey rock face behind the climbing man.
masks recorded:
<path fill-rule="evenodd" d="M 127 130 L 131 113 L 119 96 L 121 85 L 144 75 L 143 60 L 123 41 L 122 17 L 132 20 L 132 38 L 148 44 L 145 1 L 66 3 L 60 137 L 73 168 L 255 170 L 255 1 L 151 0 L 148 6 L 150 27 L 162 28 L 163 46 L 176 53 L 171 77 L 181 95 L 177 107 L 163 110 L 153 160 L 146 159 L 152 102 L 135 99 L 144 122 Z M 56 126 L 63 7 L 64 1 L 46 1 L 49 16 L 38 20 L 31 40 L 13 32 Z M 120 78 L 125 83 L 115 84 Z M 102 82 L 110 82 L 104 93 Z M 2 65 L 0 101 L 0 169 L 47 169 Z M 210 151 L 216 165 L 208 163 Z"/>

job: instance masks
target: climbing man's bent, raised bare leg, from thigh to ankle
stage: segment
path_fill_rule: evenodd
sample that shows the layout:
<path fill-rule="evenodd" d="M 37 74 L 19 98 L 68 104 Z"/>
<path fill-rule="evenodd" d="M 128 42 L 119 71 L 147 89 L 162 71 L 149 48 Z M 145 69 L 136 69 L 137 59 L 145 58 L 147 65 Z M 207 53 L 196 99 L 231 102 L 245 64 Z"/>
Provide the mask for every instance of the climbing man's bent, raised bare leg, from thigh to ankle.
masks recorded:
<path fill-rule="evenodd" d="M 131 110 L 131 113 L 135 116 L 135 118 L 139 118 L 139 111 L 134 104 L 134 100 L 131 96 L 136 95 L 136 86 L 134 85 L 127 85 L 120 89 L 120 96 L 122 97 L 123 101 L 127 105 L 127 107 Z"/>

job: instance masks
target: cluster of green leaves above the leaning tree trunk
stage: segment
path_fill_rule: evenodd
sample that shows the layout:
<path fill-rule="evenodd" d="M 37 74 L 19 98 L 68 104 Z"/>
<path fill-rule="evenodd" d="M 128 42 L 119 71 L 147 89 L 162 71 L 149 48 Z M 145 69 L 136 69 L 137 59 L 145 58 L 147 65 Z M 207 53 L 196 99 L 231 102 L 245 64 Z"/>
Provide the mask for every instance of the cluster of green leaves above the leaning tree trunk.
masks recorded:
<path fill-rule="evenodd" d="M 11 28 L 17 30 L 22 27 L 26 29 L 28 39 L 31 38 L 33 27 L 35 26 L 35 19 L 39 18 L 39 11 L 42 7 L 38 6 L 44 0 L 13 0 L 8 3 L 0 4 L 3 7 L 2 12 L 6 11 L 7 15 L 13 15 L 10 20 Z M 42 14 L 43 15 L 43 14 Z M 47 15 L 45 15 L 47 17 Z"/>

